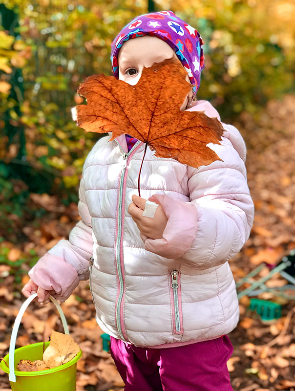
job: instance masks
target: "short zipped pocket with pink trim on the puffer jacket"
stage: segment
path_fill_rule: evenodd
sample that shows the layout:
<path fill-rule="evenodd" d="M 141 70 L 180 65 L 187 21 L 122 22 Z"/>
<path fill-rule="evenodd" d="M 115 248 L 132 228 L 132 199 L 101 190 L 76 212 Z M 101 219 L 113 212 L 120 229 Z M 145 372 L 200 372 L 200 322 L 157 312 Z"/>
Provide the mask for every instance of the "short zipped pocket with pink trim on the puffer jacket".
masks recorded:
<path fill-rule="evenodd" d="M 173 269 L 169 273 L 173 334 L 183 334 L 180 271 Z"/>

